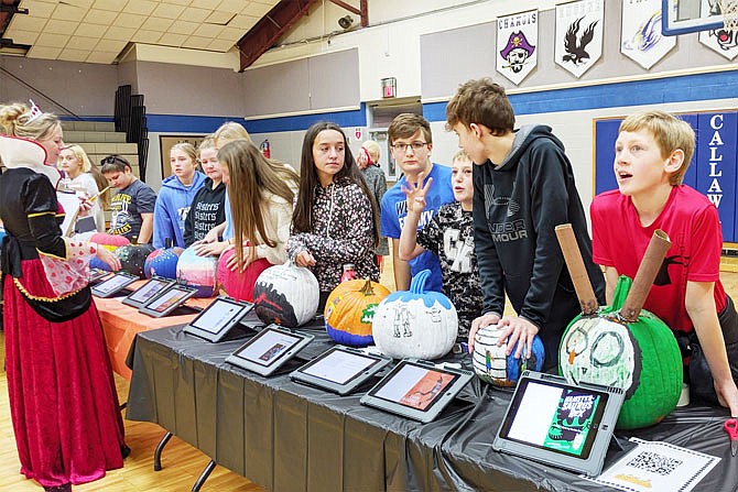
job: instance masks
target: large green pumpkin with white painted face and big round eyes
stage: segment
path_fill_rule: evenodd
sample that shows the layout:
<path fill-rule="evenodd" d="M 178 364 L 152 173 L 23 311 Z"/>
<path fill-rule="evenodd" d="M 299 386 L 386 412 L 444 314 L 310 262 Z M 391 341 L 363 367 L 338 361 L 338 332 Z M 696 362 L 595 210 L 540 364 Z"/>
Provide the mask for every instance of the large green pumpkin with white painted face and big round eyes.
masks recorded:
<path fill-rule="evenodd" d="M 618 318 L 631 284 L 621 276 L 611 306 L 574 318 L 558 349 L 560 373 L 567 381 L 625 390 L 620 429 L 661 422 L 676 407 L 683 376 L 676 339 L 661 319 L 645 309 L 636 322 Z"/>

